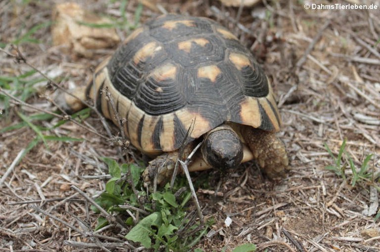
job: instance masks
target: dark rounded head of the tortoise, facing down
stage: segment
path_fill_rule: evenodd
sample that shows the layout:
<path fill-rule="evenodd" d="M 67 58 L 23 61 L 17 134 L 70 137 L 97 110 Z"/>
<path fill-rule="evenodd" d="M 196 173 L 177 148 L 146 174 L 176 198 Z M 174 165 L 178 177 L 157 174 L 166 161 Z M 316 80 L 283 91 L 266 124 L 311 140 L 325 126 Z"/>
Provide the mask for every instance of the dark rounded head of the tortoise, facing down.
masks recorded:
<path fill-rule="evenodd" d="M 243 145 L 238 134 L 228 125 L 219 126 L 205 136 L 201 147 L 203 159 L 212 167 L 236 168 L 243 158 Z"/>

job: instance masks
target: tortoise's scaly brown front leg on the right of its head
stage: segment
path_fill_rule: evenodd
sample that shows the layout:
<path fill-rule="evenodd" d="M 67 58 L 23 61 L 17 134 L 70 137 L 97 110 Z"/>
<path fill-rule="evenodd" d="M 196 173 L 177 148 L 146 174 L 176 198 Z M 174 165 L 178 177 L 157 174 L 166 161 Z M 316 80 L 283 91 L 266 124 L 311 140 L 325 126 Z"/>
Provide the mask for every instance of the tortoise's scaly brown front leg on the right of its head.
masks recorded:
<path fill-rule="evenodd" d="M 269 178 L 285 176 L 290 169 L 289 160 L 284 142 L 275 133 L 246 126 L 242 135 L 254 159 Z"/>

